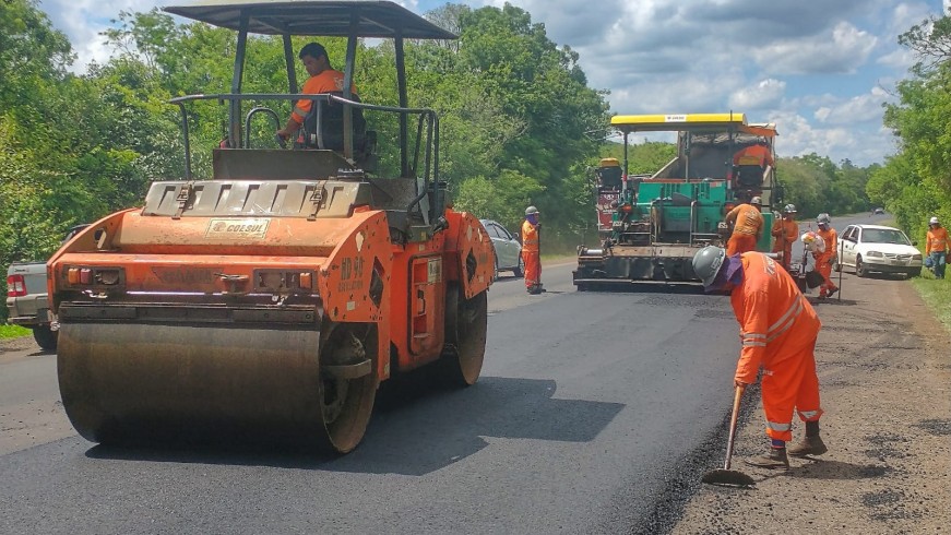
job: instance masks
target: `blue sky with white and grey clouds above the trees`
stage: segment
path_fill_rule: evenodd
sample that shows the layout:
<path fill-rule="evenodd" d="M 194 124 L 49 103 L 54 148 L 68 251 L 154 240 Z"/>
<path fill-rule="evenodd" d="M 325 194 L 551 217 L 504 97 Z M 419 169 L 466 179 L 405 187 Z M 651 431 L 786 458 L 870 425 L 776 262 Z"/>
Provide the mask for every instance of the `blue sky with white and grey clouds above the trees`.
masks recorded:
<path fill-rule="evenodd" d="M 82 72 L 109 51 L 119 11 L 170 0 L 41 0 Z M 424 14 L 438 0 L 403 0 Z M 471 0 L 473 8 L 503 1 Z M 580 54 L 589 84 L 618 114 L 742 111 L 775 122 L 780 156 L 817 153 L 865 166 L 894 153 L 882 104 L 914 62 L 897 36 L 951 0 L 509 0 Z M 106 7 L 108 5 L 108 7 Z M 197 88 L 200 91 L 200 88 Z"/>

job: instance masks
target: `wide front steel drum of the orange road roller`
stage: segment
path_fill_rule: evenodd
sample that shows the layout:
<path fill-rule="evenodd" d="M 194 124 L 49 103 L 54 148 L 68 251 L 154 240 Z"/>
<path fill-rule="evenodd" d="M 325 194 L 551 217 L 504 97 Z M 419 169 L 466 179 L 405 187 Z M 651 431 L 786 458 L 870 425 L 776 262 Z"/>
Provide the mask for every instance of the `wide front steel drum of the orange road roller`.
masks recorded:
<path fill-rule="evenodd" d="M 64 323 L 60 392 L 73 426 L 94 442 L 236 436 L 346 452 L 364 435 L 377 384 L 372 373 L 322 377 L 322 343 L 330 354 L 353 353 L 343 336 L 347 343 L 316 328 Z"/>

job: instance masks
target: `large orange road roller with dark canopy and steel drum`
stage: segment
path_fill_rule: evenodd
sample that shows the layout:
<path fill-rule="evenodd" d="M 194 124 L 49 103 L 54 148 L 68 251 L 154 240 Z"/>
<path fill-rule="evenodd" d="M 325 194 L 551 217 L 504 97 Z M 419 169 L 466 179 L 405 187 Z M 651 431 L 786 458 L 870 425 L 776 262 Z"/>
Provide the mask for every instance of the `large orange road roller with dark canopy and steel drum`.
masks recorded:
<path fill-rule="evenodd" d="M 347 452 L 392 373 L 431 364 L 447 381 L 474 383 L 491 241 L 476 217 L 448 207 L 438 118 L 407 107 L 403 67 L 404 39 L 454 36 L 393 2 L 165 11 L 237 31 L 233 91 L 173 100 L 183 179 L 154 182 L 144 206 L 96 222 L 48 263 L 73 426 L 98 442 L 226 435 Z M 253 33 L 284 37 L 288 93 L 241 94 Z M 399 106 L 297 94 L 290 35 L 347 37 L 345 87 L 357 39 L 393 39 Z M 316 117 L 294 148 L 251 146 L 253 120 L 270 118 L 273 132 L 301 97 Z M 230 116 L 209 180 L 193 179 L 186 114 L 202 99 L 226 103 Z M 370 114 L 399 124 L 399 146 L 383 147 L 392 170 L 376 170 Z"/>

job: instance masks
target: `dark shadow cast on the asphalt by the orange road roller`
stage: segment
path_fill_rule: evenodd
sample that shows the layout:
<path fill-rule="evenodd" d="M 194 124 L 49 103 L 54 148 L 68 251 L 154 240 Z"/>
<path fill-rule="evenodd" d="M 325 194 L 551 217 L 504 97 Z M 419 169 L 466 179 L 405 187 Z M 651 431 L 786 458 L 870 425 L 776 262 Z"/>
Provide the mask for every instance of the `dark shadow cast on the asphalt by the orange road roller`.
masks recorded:
<path fill-rule="evenodd" d="M 362 442 L 347 455 L 314 453 L 294 443 L 221 439 L 95 445 L 86 456 L 421 476 L 482 451 L 491 439 L 590 442 L 625 407 L 556 399 L 554 380 L 483 377 L 473 387 L 453 390 L 432 387 L 420 371 L 384 383 Z"/>

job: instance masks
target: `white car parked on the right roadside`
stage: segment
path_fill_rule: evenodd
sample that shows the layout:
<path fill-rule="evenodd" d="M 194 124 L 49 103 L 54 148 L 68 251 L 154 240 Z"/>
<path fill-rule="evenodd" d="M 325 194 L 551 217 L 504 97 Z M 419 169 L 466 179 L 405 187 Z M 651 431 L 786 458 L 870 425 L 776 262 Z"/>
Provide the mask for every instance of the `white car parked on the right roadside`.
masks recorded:
<path fill-rule="evenodd" d="M 922 274 L 922 251 L 897 228 L 849 225 L 839 237 L 836 270 L 848 266 L 863 277 L 870 272 Z"/>

